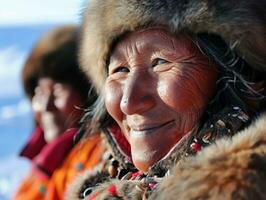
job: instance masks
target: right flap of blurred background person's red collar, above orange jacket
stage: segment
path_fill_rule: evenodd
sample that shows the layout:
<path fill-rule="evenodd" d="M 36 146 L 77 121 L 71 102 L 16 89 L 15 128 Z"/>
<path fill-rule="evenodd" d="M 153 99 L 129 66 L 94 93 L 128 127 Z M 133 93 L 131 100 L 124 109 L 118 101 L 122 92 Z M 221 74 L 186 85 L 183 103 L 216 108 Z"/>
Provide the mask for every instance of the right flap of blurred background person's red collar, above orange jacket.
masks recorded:
<path fill-rule="evenodd" d="M 33 160 L 34 167 L 39 169 L 35 171 L 51 176 L 54 170 L 63 163 L 74 146 L 73 138 L 77 130 L 77 128 L 68 129 L 55 141 L 45 145 Z"/>

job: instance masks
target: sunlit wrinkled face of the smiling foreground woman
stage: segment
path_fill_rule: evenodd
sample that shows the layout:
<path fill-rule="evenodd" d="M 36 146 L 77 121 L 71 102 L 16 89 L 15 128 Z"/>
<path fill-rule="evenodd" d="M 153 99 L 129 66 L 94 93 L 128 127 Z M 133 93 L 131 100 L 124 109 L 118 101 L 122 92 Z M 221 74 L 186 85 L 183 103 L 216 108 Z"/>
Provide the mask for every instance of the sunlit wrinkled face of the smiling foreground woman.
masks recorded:
<path fill-rule="evenodd" d="M 217 66 L 186 36 L 162 28 L 128 34 L 114 48 L 105 104 L 147 171 L 190 133 L 215 90 Z"/>

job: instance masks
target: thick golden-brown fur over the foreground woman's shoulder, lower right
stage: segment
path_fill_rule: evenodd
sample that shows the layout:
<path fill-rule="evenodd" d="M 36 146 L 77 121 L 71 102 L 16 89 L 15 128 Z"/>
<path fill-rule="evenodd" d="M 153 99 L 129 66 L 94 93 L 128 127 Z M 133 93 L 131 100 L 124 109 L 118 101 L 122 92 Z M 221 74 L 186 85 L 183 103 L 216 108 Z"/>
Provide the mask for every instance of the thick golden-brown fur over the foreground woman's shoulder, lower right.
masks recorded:
<path fill-rule="evenodd" d="M 174 167 L 150 199 L 266 199 L 266 115 Z"/>

